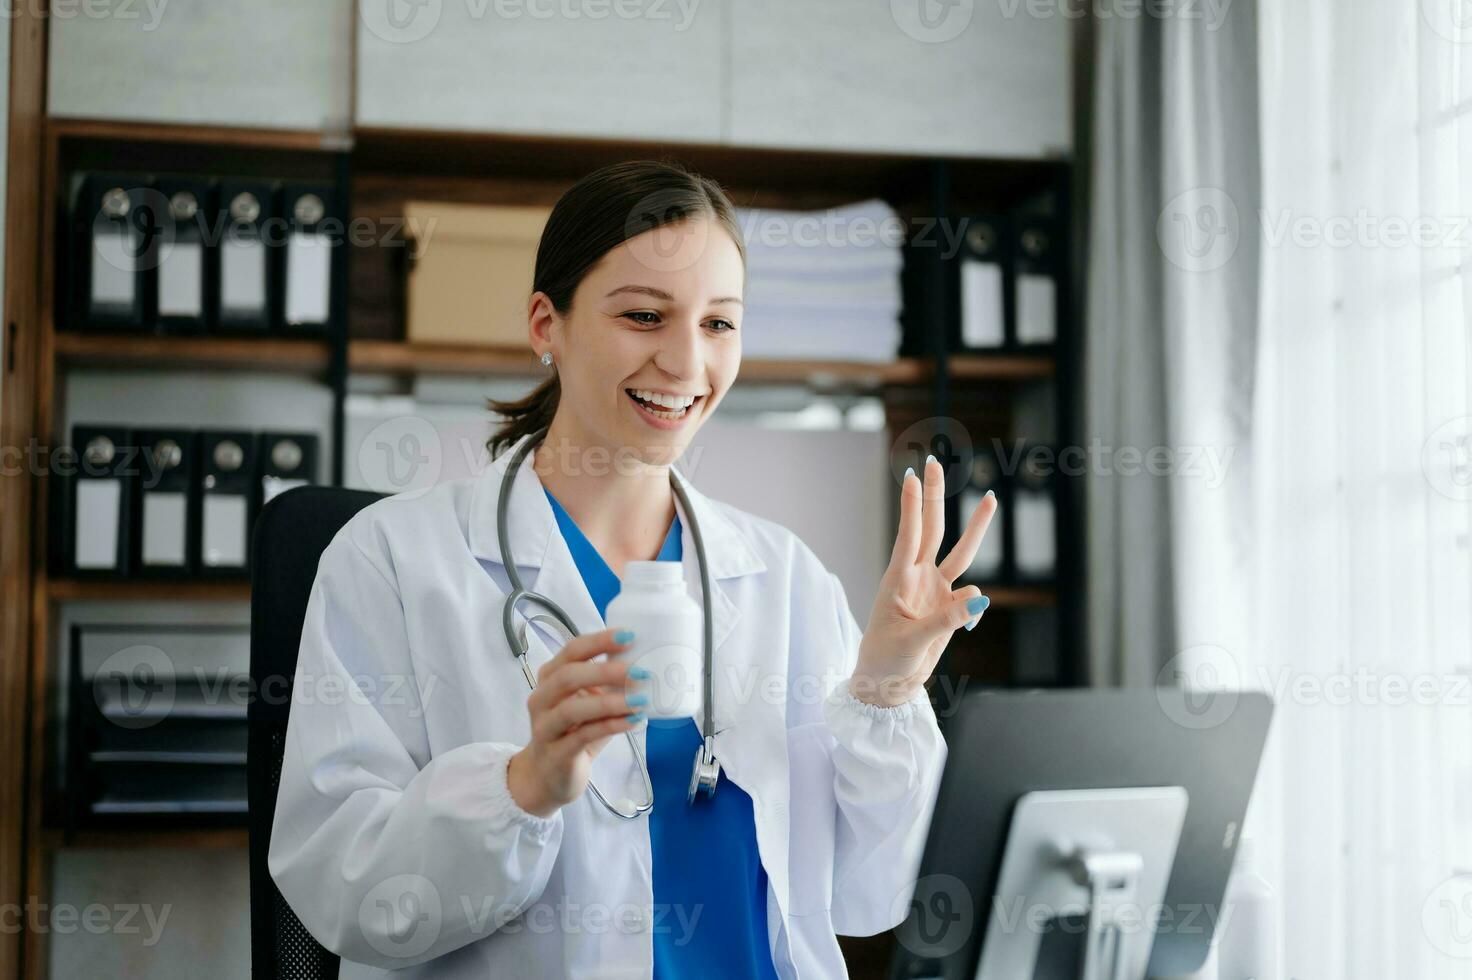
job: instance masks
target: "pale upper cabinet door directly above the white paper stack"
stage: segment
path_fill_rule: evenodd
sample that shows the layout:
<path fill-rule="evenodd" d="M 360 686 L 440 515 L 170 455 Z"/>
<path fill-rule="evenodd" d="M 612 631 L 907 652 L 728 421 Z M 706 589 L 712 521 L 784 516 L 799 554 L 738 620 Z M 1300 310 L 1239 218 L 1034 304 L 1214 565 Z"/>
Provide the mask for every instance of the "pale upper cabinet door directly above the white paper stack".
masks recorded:
<path fill-rule="evenodd" d="M 914 1 L 936 15 L 932 28 L 908 19 L 905 3 L 733 3 L 730 141 L 958 156 L 1069 150 L 1070 21 L 1032 16 L 1020 1 Z"/>

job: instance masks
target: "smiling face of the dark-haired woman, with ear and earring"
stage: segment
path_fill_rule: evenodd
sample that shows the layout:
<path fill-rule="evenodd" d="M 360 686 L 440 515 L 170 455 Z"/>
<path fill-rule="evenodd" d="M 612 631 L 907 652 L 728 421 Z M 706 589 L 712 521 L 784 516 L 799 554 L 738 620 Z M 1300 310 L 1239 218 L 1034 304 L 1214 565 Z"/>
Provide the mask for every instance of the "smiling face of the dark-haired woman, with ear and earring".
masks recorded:
<path fill-rule="evenodd" d="M 531 341 L 552 352 L 562 388 L 553 431 L 674 462 L 736 380 L 743 278 L 724 227 L 690 218 L 608 252 L 565 318 L 533 294 Z"/>

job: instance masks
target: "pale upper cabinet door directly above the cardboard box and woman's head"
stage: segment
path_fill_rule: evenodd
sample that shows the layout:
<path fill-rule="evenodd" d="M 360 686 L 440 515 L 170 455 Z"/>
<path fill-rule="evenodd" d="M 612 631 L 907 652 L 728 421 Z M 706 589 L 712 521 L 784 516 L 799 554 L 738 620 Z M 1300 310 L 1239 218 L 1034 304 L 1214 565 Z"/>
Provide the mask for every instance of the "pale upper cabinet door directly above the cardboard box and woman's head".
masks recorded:
<path fill-rule="evenodd" d="M 704 0 L 687 24 L 674 3 L 670 19 L 590 19 L 449 0 L 403 29 L 365 13 L 358 124 L 717 143 L 726 1 Z"/>

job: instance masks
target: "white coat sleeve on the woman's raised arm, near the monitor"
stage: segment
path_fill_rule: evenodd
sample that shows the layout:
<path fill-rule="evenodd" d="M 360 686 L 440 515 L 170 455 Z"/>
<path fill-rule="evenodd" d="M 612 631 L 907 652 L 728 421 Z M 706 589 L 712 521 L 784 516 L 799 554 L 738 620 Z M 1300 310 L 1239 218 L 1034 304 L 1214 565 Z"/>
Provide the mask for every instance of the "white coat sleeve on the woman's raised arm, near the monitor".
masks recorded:
<path fill-rule="evenodd" d="M 833 928 L 873 936 L 904 921 L 920 868 L 946 745 L 921 687 L 895 708 L 848 689 L 863 631 L 843 586 L 829 572 L 842 642 L 842 677 L 823 702 L 833 733 Z"/>

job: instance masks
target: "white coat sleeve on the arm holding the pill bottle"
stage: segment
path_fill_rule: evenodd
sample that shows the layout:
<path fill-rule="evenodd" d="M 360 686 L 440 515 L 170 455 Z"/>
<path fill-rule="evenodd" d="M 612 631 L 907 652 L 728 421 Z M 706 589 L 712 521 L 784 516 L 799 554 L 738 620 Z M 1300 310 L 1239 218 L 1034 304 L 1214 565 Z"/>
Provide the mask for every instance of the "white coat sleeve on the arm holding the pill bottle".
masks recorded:
<path fill-rule="evenodd" d="M 421 702 L 434 684 L 415 670 L 393 568 L 350 530 L 324 552 L 308 600 L 266 864 L 319 943 L 392 970 L 481 939 L 534 902 L 562 814 L 511 798 L 520 746 L 431 755 Z"/>

